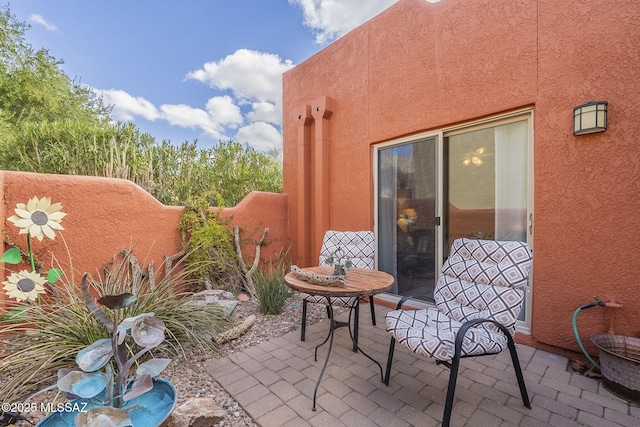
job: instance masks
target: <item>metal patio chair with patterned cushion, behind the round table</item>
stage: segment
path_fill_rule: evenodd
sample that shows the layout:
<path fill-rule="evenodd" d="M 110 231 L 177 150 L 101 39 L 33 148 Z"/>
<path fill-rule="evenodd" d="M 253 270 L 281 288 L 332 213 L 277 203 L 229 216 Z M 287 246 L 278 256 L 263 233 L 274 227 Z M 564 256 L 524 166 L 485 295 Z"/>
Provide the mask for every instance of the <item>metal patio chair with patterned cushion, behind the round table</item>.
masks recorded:
<path fill-rule="evenodd" d="M 325 233 L 322 239 L 322 247 L 320 249 L 319 265 L 320 266 L 332 266 L 333 255 L 338 248 L 342 251 L 345 257 L 347 257 L 355 268 L 368 268 L 375 269 L 375 248 L 376 238 L 373 231 L 334 231 L 329 230 Z M 348 272 L 347 272 L 348 274 Z M 359 306 L 355 304 L 356 298 L 354 297 L 336 297 L 332 298 L 331 302 L 333 306 L 354 307 L 354 322 L 353 322 L 353 338 L 354 345 L 353 351 L 357 351 L 358 342 L 358 319 L 359 319 Z M 302 328 L 300 332 L 300 340 L 305 340 L 305 333 L 307 327 L 307 304 L 317 303 L 327 305 L 327 299 L 321 296 L 314 296 L 309 294 L 303 294 L 302 300 Z M 373 304 L 373 297 L 369 297 L 369 305 L 371 307 L 371 322 L 376 324 L 375 309 Z M 327 315 L 329 310 L 327 308 Z M 346 323 L 339 322 L 337 326 L 347 326 Z"/>

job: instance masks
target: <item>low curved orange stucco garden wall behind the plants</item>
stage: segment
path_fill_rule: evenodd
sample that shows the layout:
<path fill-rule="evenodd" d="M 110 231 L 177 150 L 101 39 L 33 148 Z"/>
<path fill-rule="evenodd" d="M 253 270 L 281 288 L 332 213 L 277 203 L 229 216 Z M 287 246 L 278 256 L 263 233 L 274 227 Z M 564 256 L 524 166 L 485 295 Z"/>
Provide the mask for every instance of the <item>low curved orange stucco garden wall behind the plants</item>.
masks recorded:
<path fill-rule="evenodd" d="M 86 176 L 46 175 L 0 171 L 0 189 L 4 229 L 10 239 L 26 248 L 25 235 L 18 235 L 18 228 L 6 221 L 13 215 L 17 203 L 30 198 L 51 197 L 61 202 L 67 216 L 62 220 L 62 235 L 72 256 L 73 271 L 79 283 L 83 272 L 97 274 L 103 264 L 123 249 L 134 248 L 134 254 L 143 266 L 151 260 L 158 274 L 164 271 L 165 255 L 173 255 L 182 248 L 178 221 L 180 206 L 165 206 L 145 190 L 130 181 Z M 237 206 L 226 208 L 223 215 L 231 218 L 232 225 L 245 231 L 241 237 L 249 237 L 257 230 L 254 239 L 269 227 L 261 258 L 273 257 L 282 247 L 288 247 L 286 196 L 283 194 L 254 192 Z M 60 237 L 45 238 L 42 242 L 32 239 L 34 251 L 45 249 L 44 262 L 50 262 L 49 251 L 55 254 L 65 273 L 69 273 L 69 256 Z M 247 262 L 253 260 L 255 247 L 247 244 L 243 255 Z M 2 280 L 15 266 L 5 264 L 0 274 Z M 0 292 L 0 301 L 5 298 Z"/>

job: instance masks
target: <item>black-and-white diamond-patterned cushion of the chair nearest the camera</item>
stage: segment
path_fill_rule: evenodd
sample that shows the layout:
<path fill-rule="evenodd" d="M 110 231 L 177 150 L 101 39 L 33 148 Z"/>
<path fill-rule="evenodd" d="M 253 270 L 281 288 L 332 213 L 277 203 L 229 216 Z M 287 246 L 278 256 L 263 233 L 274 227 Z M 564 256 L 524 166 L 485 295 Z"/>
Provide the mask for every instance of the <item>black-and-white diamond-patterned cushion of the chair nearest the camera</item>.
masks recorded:
<path fill-rule="evenodd" d="M 523 242 L 457 239 L 436 284 L 436 307 L 387 313 L 387 332 L 411 351 L 438 360 L 452 359 L 456 333 L 469 320 L 495 320 L 513 335 L 531 261 Z M 466 333 L 462 356 L 499 353 L 506 346 L 497 326 L 482 323 Z"/>

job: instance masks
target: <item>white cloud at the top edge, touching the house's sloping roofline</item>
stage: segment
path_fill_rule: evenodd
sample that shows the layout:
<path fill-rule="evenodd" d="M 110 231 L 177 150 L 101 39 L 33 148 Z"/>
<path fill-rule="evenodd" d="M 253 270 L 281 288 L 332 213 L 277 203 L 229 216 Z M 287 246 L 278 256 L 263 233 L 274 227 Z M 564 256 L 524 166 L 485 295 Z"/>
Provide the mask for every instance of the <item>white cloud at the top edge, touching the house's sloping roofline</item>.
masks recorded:
<path fill-rule="evenodd" d="M 397 0 L 289 0 L 302 8 L 304 25 L 325 44 L 373 18 Z"/>

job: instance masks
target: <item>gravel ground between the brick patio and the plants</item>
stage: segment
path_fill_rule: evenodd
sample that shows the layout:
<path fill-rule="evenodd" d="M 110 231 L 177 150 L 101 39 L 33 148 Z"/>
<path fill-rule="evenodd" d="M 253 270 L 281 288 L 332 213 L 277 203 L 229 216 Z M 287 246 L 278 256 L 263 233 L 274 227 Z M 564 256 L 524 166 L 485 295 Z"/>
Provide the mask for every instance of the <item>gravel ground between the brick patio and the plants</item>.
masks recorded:
<path fill-rule="evenodd" d="M 256 321 L 249 331 L 240 338 L 224 343 L 217 352 L 203 351 L 201 348 L 185 348 L 184 356 L 174 356 L 171 364 L 160 374 L 171 381 L 178 392 L 178 404 L 182 405 L 193 397 L 211 397 L 222 409 L 226 410 L 226 418 L 218 425 L 220 427 L 257 426 L 254 420 L 238 405 L 238 403 L 212 378 L 205 370 L 207 361 L 216 357 L 224 357 L 234 352 L 242 351 L 253 345 L 260 344 L 272 338 L 279 337 L 300 327 L 302 299 L 295 294 L 285 302 L 283 313 L 277 316 L 260 313 L 259 303 L 254 300 L 241 302 L 234 310 L 234 322 L 242 323 L 249 315 L 254 314 Z M 309 304 L 307 309 L 307 324 L 313 324 L 326 318 L 326 309 L 320 304 Z M 11 345 L 5 342 L 0 347 L 0 357 L 10 357 Z M 53 391 L 43 393 L 29 401 L 29 403 L 51 402 L 55 397 Z M 57 401 L 60 401 L 58 398 Z M 33 412 L 23 414 L 26 421 L 19 421 L 16 426 L 35 424 L 46 414 Z"/>

